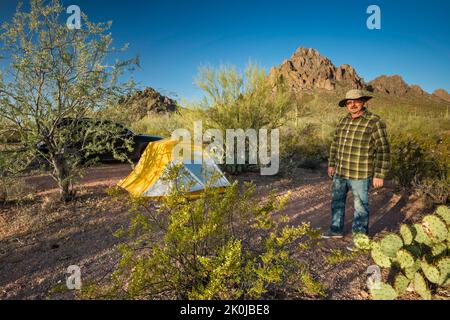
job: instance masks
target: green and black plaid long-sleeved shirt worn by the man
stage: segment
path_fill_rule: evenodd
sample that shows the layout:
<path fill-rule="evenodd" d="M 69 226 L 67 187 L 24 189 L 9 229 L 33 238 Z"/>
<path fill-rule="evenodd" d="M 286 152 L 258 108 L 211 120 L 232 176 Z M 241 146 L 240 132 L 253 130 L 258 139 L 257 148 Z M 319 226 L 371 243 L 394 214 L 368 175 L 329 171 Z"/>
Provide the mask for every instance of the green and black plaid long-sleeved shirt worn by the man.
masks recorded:
<path fill-rule="evenodd" d="M 380 117 L 367 110 L 356 119 L 350 114 L 343 117 L 336 127 L 328 165 L 344 179 L 385 179 L 390 169 L 390 147 Z"/>

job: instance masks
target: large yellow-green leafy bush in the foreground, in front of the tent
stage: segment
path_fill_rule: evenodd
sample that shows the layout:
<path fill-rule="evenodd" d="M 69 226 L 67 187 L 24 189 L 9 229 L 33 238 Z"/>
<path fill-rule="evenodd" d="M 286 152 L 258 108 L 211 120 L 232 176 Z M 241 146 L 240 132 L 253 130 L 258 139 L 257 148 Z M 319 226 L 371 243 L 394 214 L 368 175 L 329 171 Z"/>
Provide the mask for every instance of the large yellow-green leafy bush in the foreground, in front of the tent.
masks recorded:
<path fill-rule="evenodd" d="M 234 183 L 223 194 L 207 188 L 195 200 L 177 188 L 157 205 L 130 199 L 135 216 L 118 235 L 134 240 L 120 246 L 112 282 L 85 288 L 82 298 L 257 299 L 320 292 L 296 258 L 318 232 L 275 218 L 287 197 L 255 203 L 254 191 L 251 184 L 241 190 Z"/>

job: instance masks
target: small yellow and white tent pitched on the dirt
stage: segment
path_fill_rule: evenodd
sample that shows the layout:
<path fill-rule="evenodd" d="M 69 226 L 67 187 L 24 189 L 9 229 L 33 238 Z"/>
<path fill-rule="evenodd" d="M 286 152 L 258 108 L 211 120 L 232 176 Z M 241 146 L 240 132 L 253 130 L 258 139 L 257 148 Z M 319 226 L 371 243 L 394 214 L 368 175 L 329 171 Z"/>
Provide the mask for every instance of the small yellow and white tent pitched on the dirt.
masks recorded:
<path fill-rule="evenodd" d="M 193 160 L 184 160 L 174 156 L 174 148 L 178 150 L 188 147 L 192 150 L 190 159 L 201 156 L 202 163 Z M 180 175 L 176 183 L 165 178 L 172 166 L 181 165 Z M 182 174 L 181 174 L 182 172 Z M 177 185 L 189 195 L 195 197 L 206 187 L 224 189 L 230 186 L 229 181 L 203 147 L 194 144 L 164 139 L 151 142 L 142 154 L 134 170 L 124 180 L 118 183 L 119 187 L 127 190 L 135 197 L 160 198 L 168 195 Z"/>

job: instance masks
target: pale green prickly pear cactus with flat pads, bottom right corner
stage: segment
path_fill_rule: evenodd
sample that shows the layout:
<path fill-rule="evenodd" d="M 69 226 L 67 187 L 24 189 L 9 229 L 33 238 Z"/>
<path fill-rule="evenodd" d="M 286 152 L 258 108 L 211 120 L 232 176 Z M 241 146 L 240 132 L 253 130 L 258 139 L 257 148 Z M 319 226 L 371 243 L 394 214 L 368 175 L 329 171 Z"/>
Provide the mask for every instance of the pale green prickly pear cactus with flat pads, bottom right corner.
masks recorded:
<path fill-rule="evenodd" d="M 450 208 L 439 207 L 413 226 L 401 225 L 399 234 L 390 233 L 380 241 L 360 235 L 381 268 L 389 269 L 388 282 L 371 288 L 376 300 L 392 300 L 406 292 L 431 299 L 433 292 L 450 285 Z"/>

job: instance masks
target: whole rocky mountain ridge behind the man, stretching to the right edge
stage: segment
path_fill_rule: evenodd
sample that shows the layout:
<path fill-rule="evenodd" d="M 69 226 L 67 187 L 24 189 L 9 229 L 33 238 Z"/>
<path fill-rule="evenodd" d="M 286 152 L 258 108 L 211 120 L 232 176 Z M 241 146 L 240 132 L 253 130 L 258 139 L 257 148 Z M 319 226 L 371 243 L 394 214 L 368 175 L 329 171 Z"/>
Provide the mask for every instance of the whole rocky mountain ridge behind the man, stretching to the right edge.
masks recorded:
<path fill-rule="evenodd" d="M 309 95 L 306 104 L 324 110 L 336 110 L 337 102 L 349 89 L 364 89 L 375 96 L 370 106 L 401 108 L 419 114 L 445 114 L 450 94 L 437 90 L 433 94 L 418 85 L 407 84 L 400 75 L 380 76 L 369 83 L 351 65 L 336 67 L 333 62 L 312 48 L 298 48 L 292 57 L 273 67 L 269 81 L 276 86 L 282 79 L 300 98 Z"/>

